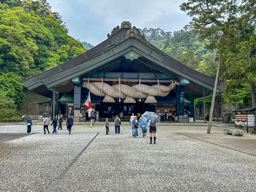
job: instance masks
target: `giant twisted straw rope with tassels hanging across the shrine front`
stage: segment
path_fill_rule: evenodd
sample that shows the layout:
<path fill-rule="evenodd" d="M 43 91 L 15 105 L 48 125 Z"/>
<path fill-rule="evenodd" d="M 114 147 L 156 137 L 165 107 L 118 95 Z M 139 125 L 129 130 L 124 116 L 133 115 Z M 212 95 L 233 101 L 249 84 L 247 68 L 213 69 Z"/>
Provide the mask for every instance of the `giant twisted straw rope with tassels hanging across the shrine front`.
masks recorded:
<path fill-rule="evenodd" d="M 89 82 L 84 81 L 83 87 L 88 88 L 91 93 L 98 96 L 105 96 L 103 102 L 114 103 L 114 98 L 125 99 L 124 103 L 136 103 L 134 98 L 138 98 L 141 101 L 141 98 L 146 98 L 145 103 L 157 103 L 154 96 L 165 97 L 169 94 L 170 90 L 172 90 L 178 82 L 173 82 L 169 86 L 164 86 L 159 84 L 159 80 L 157 80 L 157 84 L 153 86 L 148 86 L 140 83 L 136 84 L 132 87 L 120 84 L 110 86 L 107 83 L 103 82 Z"/>

